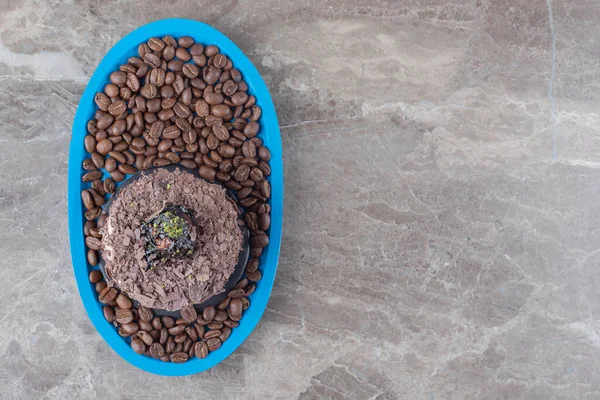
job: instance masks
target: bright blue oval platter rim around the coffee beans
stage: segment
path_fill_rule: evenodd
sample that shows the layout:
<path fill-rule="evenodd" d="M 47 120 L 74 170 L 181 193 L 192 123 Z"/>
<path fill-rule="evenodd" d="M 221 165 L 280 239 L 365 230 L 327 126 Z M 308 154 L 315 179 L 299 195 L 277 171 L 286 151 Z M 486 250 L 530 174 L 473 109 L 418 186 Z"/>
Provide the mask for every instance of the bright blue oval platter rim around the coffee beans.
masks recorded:
<path fill-rule="evenodd" d="M 204 359 L 194 357 L 182 364 L 162 362 L 135 353 L 129 345 L 129 339 L 119 336 L 117 329 L 104 319 L 103 305 L 98 301 L 94 285 L 88 280 L 90 271 L 98 269 L 98 266 L 91 266 L 87 262 L 83 234 L 83 225 L 86 220 L 81 201 L 81 191 L 90 187 L 89 183 L 81 181 L 81 177 L 86 172 L 82 168 L 82 162 L 90 157 L 84 148 L 84 137 L 87 134 L 87 122 L 93 119 L 97 109 L 94 103 L 96 92 L 103 91 L 104 86 L 109 83 L 108 77 L 111 72 L 118 70 L 119 66 L 125 64 L 129 57 L 137 56 L 137 49 L 141 43 L 146 43 L 152 37 L 167 35 L 175 38 L 191 36 L 198 43 L 216 45 L 221 53 L 231 59 L 234 67 L 241 71 L 244 80 L 248 84 L 249 94 L 256 97 L 256 104 L 262 108 L 262 116 L 258 121 L 260 124 L 258 137 L 263 140 L 265 146 L 271 151 L 270 166 L 272 171 L 268 177 L 272 192 L 269 200 L 271 205 L 271 226 L 268 232 L 270 243 L 264 249 L 260 259 L 262 279 L 257 282 L 255 292 L 249 297 L 250 307 L 244 312 L 240 325 L 232 330 L 229 339 L 219 349 L 210 352 L 208 357 Z M 88 316 L 110 347 L 129 363 L 158 375 L 182 376 L 196 374 L 224 360 L 250 335 L 267 307 L 277 270 L 282 218 L 283 163 L 277 115 L 269 90 L 248 57 L 218 30 L 201 22 L 186 19 L 165 19 L 152 22 L 136 29 L 115 44 L 102 59 L 81 96 L 73 122 L 69 152 L 69 232 L 73 270 Z"/>

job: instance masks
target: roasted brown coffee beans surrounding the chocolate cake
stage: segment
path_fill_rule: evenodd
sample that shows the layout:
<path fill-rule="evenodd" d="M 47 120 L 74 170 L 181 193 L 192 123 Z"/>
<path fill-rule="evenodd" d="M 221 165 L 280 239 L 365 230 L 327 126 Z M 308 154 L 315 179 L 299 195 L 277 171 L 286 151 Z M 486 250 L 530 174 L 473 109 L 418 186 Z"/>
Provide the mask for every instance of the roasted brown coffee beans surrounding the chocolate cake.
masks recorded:
<path fill-rule="evenodd" d="M 262 276 L 259 258 L 269 244 L 271 153 L 257 136 L 261 108 L 256 98 L 217 46 L 165 36 L 142 43 L 138 54 L 96 93 L 98 109 L 87 124 L 84 146 L 90 157 L 83 161 L 81 199 L 90 266 L 100 259 L 106 196 L 127 175 L 151 167 L 180 164 L 222 182 L 236 193 L 251 231 L 250 258 L 236 287 L 217 307 L 199 313 L 190 305 L 177 320 L 134 307 L 125 294 L 107 286 L 99 270 L 90 272 L 104 317 L 132 349 L 180 363 L 217 350 L 250 305 L 248 296 Z"/>

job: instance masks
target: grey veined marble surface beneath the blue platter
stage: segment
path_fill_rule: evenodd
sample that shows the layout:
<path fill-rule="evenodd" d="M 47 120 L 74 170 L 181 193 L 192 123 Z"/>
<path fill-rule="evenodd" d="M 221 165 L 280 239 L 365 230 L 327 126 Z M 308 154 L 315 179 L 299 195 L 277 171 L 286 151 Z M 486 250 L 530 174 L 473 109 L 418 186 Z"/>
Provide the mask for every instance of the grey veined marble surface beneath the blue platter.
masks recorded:
<path fill-rule="evenodd" d="M 600 398 L 596 0 L 0 5 L 0 398 Z M 251 57 L 285 157 L 269 307 L 185 378 L 103 342 L 67 231 L 79 97 L 162 17 Z"/>

